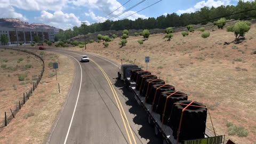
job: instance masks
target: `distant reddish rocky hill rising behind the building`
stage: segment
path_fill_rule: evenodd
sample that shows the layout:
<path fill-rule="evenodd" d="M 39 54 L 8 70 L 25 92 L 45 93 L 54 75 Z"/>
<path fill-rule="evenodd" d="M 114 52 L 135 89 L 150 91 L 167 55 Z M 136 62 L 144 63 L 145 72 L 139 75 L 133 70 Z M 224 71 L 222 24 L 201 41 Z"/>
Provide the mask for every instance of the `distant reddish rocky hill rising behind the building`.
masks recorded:
<path fill-rule="evenodd" d="M 26 28 L 26 29 L 54 29 L 56 31 L 60 30 L 59 28 L 48 26 L 48 25 L 45 25 L 44 23 L 28 23 L 25 21 L 21 21 L 20 19 L 12 19 L 12 18 L 1 18 L 0 27 Z"/>

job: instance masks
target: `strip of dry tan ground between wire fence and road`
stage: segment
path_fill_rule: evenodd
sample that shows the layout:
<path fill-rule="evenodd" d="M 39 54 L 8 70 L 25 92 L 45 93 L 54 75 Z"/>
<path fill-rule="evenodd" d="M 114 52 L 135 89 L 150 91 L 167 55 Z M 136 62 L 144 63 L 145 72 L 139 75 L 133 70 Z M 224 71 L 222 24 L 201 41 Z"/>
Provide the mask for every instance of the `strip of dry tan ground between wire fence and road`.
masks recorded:
<path fill-rule="evenodd" d="M 33 52 L 41 53 L 45 60 L 42 81 L 15 118 L 0 133 L 0 143 L 45 143 L 52 124 L 66 101 L 74 76 L 73 61 L 58 53 Z M 59 63 L 58 81 L 51 65 L 55 61 Z"/>

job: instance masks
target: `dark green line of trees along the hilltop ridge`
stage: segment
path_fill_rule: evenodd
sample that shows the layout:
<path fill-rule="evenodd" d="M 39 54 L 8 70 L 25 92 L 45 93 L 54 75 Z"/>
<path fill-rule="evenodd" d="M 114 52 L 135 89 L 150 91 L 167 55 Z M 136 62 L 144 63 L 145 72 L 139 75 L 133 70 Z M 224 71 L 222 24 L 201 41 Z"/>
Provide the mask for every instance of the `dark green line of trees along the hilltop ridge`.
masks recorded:
<path fill-rule="evenodd" d="M 77 35 L 84 35 L 89 33 L 94 33 L 96 31 L 105 31 L 105 30 L 124 30 L 124 29 L 155 29 L 161 28 L 165 29 L 167 27 L 179 27 L 187 26 L 191 23 L 197 23 L 199 21 L 205 21 L 200 24 L 206 25 L 207 22 L 214 22 L 216 20 L 210 20 L 222 15 L 230 15 L 233 13 L 246 11 L 250 9 L 255 9 L 256 1 L 253 2 L 243 2 L 238 1 L 237 5 L 221 5 L 218 7 L 202 7 L 200 10 L 192 13 L 183 13 L 178 15 L 177 13 L 171 13 L 167 15 L 161 15 L 157 18 L 148 18 L 142 19 L 138 18 L 136 20 L 118 20 L 110 21 L 107 20 L 101 23 L 93 23 L 89 26 L 73 27 L 73 29 L 60 30 L 60 33 L 57 34 L 55 40 L 59 39 L 70 39 Z M 256 15 L 256 10 L 247 11 L 244 13 L 234 14 L 226 17 L 226 19 L 240 19 L 245 17 L 252 17 Z M 245 19 L 250 20 L 251 18 Z M 210 20 L 210 21 L 207 21 Z"/>

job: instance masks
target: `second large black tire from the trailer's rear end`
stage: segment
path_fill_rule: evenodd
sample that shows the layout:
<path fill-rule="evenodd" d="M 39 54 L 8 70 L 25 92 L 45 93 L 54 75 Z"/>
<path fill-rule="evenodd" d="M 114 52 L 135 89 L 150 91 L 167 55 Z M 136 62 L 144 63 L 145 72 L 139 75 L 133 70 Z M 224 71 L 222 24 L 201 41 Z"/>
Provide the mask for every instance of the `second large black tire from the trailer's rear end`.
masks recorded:
<path fill-rule="evenodd" d="M 188 100 L 187 94 L 183 92 L 175 92 L 175 91 L 165 91 L 166 93 L 161 93 L 158 102 L 157 102 L 157 108 L 155 111 L 161 116 L 161 121 L 163 121 L 164 124 L 167 124 L 167 121 L 171 115 L 173 103 L 181 101 L 181 100 Z M 175 92 L 175 93 L 174 93 Z M 167 94 L 168 93 L 168 94 Z M 172 94 L 166 102 L 166 98 Z M 164 113 L 164 107 L 165 107 L 165 102 L 166 102 L 166 108 L 165 108 L 165 113 Z M 163 113 L 164 113 L 164 119 L 163 119 Z"/>

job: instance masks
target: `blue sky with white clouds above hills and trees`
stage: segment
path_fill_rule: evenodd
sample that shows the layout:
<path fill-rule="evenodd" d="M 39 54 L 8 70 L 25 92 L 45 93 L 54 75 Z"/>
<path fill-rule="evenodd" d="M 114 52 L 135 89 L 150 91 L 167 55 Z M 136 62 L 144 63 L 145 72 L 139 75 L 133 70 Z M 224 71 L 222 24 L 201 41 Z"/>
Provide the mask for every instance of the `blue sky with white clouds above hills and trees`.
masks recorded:
<path fill-rule="evenodd" d="M 142 3 L 129 10 L 141 1 Z M 86 25 L 91 25 L 93 22 L 103 22 L 111 18 L 114 21 L 123 19 L 158 1 L 160 0 L 0 0 L 0 18 L 18 18 L 29 23 L 45 23 L 66 30 L 74 26 L 81 26 L 81 22 L 87 22 Z M 190 13 L 200 10 L 204 6 L 236 5 L 237 1 L 162 0 L 127 17 L 127 19 L 156 18 L 173 12 L 178 14 Z M 116 10 L 118 7 L 120 8 Z M 127 12 L 113 18 L 124 11 Z M 104 18 L 106 15 L 108 16 Z"/>

